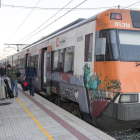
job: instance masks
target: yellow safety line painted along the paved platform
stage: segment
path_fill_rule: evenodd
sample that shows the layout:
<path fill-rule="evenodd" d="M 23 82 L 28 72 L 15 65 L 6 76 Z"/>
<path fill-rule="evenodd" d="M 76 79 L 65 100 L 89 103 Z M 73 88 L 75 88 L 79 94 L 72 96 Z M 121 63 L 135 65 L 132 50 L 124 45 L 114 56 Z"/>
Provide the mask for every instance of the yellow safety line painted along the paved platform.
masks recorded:
<path fill-rule="evenodd" d="M 30 113 L 30 111 L 23 105 L 23 103 L 16 98 L 20 105 L 24 108 L 24 110 L 29 114 L 29 116 L 35 121 L 38 127 L 43 131 L 43 133 L 48 137 L 49 140 L 53 140 L 53 138 L 49 135 L 49 133 L 43 128 L 43 126 L 38 122 L 38 120 Z"/>

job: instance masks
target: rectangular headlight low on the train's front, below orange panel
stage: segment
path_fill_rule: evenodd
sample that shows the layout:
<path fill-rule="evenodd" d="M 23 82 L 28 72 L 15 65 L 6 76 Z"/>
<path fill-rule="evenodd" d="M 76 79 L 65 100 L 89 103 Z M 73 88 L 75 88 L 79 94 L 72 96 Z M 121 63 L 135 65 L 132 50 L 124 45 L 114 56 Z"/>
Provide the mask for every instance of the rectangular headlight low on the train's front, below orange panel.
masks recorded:
<path fill-rule="evenodd" d="M 138 102 L 138 94 L 121 94 L 119 103 L 136 103 Z"/>

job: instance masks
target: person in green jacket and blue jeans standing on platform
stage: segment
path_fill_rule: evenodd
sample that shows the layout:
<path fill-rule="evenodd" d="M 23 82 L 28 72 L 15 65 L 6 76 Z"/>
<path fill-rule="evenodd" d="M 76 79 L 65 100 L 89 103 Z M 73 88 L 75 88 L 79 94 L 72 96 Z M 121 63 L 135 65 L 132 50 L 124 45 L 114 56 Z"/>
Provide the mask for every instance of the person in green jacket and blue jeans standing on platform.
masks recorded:
<path fill-rule="evenodd" d="M 15 88 L 15 92 L 16 92 L 16 96 L 18 97 L 18 89 L 17 89 L 17 75 L 16 73 L 18 73 L 19 71 L 16 68 L 12 68 L 10 64 L 7 65 L 7 73 L 5 75 L 5 77 L 9 77 L 10 81 L 11 81 L 11 90 L 14 94 L 14 88 Z"/>

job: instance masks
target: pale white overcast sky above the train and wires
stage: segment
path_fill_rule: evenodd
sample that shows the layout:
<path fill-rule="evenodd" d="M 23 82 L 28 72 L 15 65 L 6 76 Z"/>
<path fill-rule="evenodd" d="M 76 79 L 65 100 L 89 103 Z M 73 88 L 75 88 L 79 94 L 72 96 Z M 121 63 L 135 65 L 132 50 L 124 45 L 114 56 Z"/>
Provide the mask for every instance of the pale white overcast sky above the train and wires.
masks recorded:
<path fill-rule="evenodd" d="M 52 17 L 59 10 L 37 10 L 37 9 L 25 9 L 25 8 L 15 8 L 13 6 L 26 6 L 26 7 L 42 7 L 42 8 L 62 8 L 67 5 L 71 0 L 1 0 L 0 8 L 0 59 L 6 58 L 9 55 L 16 53 L 14 49 L 7 49 L 7 44 L 31 44 L 43 36 L 46 36 L 53 31 L 71 23 L 78 18 L 89 18 L 97 13 L 100 13 L 106 9 L 117 8 L 118 5 L 121 8 L 125 8 L 133 3 L 137 3 L 138 0 L 87 0 L 78 8 L 99 8 L 94 10 L 73 10 L 67 15 L 51 24 L 47 28 L 43 29 L 41 32 L 35 36 L 27 37 L 32 31 L 37 29 L 50 17 Z M 74 8 L 78 4 L 82 3 L 84 0 L 72 0 L 65 8 Z M 5 7 L 3 5 L 13 5 L 12 7 Z M 129 8 L 140 9 L 140 3 L 132 5 Z M 32 11 L 32 12 L 31 12 Z M 47 26 L 51 22 L 55 21 L 57 18 L 68 12 L 67 10 L 60 11 L 51 20 L 45 23 L 41 28 Z M 29 13 L 31 13 L 29 15 Z M 25 20 L 26 19 L 26 20 Z M 23 23 L 24 21 L 24 23 Z M 22 24 L 23 23 L 23 24 Z M 20 26 L 22 24 L 22 26 Z M 20 27 L 20 28 L 19 28 Z M 39 28 L 39 30 L 41 29 Z M 18 29 L 18 30 L 17 30 Z M 37 30 L 37 31 L 39 31 Z M 36 32 L 37 32 L 36 31 Z M 36 33 L 34 32 L 34 33 Z M 26 39 L 24 39 L 27 37 Z M 24 40 L 23 40 L 24 39 Z M 16 46 L 10 46 L 16 47 Z"/>

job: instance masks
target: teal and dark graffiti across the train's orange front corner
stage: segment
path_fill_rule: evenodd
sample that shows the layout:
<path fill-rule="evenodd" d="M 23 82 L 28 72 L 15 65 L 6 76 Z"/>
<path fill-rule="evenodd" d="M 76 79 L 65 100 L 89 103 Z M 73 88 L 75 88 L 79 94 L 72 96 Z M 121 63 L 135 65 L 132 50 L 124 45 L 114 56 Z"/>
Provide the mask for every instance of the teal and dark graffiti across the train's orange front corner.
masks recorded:
<path fill-rule="evenodd" d="M 101 74 L 93 73 L 91 66 L 85 64 L 84 66 L 84 83 L 85 87 L 88 90 L 89 100 L 97 99 L 105 99 L 111 98 L 113 99 L 117 92 L 121 90 L 121 82 L 116 79 L 110 80 L 107 76 L 105 79 L 100 79 Z M 113 92 L 112 92 L 113 91 Z"/>

